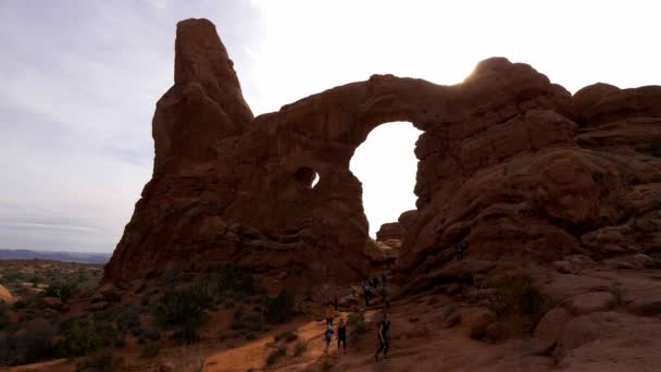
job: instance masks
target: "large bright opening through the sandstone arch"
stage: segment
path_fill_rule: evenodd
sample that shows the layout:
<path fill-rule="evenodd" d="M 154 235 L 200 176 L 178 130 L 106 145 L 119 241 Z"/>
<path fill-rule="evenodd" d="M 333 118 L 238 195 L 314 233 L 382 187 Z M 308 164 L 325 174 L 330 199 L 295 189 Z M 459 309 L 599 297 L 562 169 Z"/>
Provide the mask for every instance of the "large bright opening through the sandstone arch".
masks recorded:
<path fill-rule="evenodd" d="M 362 183 L 362 204 L 376 237 L 382 224 L 415 209 L 415 141 L 423 132 L 410 122 L 389 122 L 370 132 L 356 149 L 349 169 Z"/>

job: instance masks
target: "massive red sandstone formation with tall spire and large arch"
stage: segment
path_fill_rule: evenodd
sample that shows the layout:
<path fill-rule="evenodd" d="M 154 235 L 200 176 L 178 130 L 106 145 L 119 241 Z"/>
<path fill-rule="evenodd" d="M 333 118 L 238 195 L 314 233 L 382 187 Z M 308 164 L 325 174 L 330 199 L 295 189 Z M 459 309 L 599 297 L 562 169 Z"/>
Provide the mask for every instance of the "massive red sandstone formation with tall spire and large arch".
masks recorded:
<path fill-rule="evenodd" d="M 392 121 L 424 131 L 417 209 L 399 219 L 404 276 L 438 276 L 459 241 L 467 262 L 661 249 L 661 87 L 572 97 L 495 58 L 454 86 L 374 75 L 253 117 L 209 21 L 180 22 L 175 46 L 153 176 L 107 282 L 226 260 L 313 282 L 365 277 L 367 221 L 349 162 Z"/>

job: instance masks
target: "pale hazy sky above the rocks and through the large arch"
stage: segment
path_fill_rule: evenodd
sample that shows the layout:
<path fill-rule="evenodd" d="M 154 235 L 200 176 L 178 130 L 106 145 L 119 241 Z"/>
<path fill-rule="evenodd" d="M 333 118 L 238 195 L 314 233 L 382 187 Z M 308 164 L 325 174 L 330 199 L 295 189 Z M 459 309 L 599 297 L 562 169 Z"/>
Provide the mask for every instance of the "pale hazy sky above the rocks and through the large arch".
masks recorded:
<path fill-rule="evenodd" d="M 661 84 L 656 1 L 0 0 L 0 249 L 112 251 L 153 161 L 176 22 L 211 20 L 253 113 L 375 73 L 456 84 L 502 55 L 570 91 Z M 414 208 L 419 132 L 351 170 L 371 233 Z"/>

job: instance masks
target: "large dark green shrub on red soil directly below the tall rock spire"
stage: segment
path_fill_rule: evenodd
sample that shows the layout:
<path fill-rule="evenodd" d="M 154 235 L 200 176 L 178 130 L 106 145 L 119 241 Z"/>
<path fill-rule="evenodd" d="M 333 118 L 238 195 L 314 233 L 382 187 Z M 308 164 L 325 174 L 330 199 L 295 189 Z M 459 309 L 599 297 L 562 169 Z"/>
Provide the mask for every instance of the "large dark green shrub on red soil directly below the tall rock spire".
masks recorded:
<path fill-rule="evenodd" d="M 183 324 L 199 320 L 212 299 L 203 282 L 165 292 L 157 305 L 157 320 L 162 325 Z"/>

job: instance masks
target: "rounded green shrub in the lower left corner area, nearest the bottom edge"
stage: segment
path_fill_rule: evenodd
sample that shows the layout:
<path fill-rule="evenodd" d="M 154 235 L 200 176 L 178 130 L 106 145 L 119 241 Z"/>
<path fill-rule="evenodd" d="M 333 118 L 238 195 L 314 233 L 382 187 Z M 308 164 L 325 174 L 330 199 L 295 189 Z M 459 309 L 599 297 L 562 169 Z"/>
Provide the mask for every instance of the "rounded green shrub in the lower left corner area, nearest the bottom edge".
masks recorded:
<path fill-rule="evenodd" d="M 60 324 L 62 339 L 55 345 L 59 357 L 79 357 L 115 345 L 121 334 L 105 317 L 71 318 Z"/>

